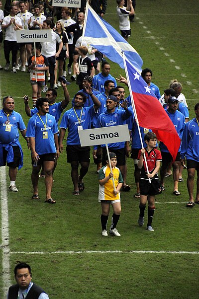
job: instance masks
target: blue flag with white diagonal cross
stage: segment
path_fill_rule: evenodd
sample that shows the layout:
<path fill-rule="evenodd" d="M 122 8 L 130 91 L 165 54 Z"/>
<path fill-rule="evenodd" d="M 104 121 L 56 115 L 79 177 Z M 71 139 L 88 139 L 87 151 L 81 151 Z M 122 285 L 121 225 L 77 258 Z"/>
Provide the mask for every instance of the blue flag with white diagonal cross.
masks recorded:
<path fill-rule="evenodd" d="M 87 2 L 88 3 L 88 2 Z M 126 60 L 141 73 L 143 61 L 137 51 L 87 4 L 83 40 L 124 69 L 121 51 Z"/>

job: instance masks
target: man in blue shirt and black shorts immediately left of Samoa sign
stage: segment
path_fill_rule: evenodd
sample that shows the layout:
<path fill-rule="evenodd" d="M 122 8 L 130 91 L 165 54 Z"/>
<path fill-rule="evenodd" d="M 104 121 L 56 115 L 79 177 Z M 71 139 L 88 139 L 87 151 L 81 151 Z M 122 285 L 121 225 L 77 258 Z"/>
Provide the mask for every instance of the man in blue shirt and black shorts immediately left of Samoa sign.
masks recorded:
<path fill-rule="evenodd" d="M 80 192 L 84 190 L 83 178 L 87 174 L 90 164 L 90 147 L 81 147 L 78 131 L 91 128 L 92 117 L 100 107 L 100 101 L 94 95 L 91 86 L 85 87 L 85 91 L 91 96 L 94 105 L 84 107 L 86 96 L 83 92 L 77 92 L 74 107 L 64 113 L 60 124 L 60 152 L 63 152 L 63 139 L 68 129 L 66 152 L 67 162 L 71 163 L 74 195 L 80 195 Z M 79 163 L 81 164 L 80 175 L 78 175 Z"/>

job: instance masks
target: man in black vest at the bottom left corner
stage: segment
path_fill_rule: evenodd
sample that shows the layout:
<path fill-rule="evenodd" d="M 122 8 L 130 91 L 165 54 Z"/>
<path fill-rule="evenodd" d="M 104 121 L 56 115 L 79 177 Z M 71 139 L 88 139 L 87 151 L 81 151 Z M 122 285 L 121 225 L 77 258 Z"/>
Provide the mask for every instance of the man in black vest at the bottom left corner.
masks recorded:
<path fill-rule="evenodd" d="M 26 263 L 19 263 L 14 268 L 16 285 L 9 287 L 7 299 L 49 299 L 39 286 L 31 282 L 31 268 Z"/>

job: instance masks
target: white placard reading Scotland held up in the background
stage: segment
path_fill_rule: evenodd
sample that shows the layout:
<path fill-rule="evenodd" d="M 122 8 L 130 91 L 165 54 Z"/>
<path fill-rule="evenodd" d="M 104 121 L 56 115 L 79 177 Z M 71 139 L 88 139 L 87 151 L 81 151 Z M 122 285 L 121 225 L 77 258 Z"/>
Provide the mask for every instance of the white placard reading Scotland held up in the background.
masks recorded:
<path fill-rule="evenodd" d="M 52 42 L 51 30 L 16 30 L 17 43 Z"/>

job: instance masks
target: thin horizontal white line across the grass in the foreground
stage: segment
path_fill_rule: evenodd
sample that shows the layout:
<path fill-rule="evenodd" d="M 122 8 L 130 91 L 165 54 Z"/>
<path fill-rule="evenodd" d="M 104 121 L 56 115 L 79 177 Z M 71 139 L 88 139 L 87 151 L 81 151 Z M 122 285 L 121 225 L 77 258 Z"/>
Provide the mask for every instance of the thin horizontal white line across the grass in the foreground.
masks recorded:
<path fill-rule="evenodd" d="M 199 254 L 199 251 L 153 251 L 153 250 L 129 250 L 129 251 L 122 251 L 122 250 L 85 250 L 85 251 L 52 251 L 52 252 L 43 252 L 43 251 L 32 251 L 32 252 L 25 252 L 25 251 L 18 251 L 18 252 L 10 252 L 10 254 L 80 254 L 80 253 L 138 253 L 138 254 L 146 254 L 146 253 L 157 253 L 157 254 Z"/>

